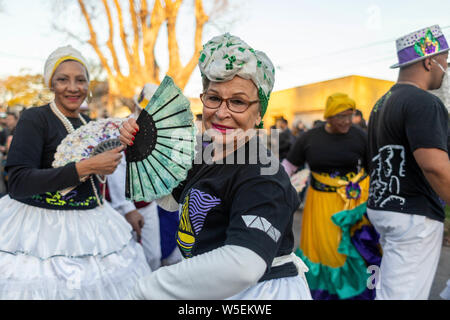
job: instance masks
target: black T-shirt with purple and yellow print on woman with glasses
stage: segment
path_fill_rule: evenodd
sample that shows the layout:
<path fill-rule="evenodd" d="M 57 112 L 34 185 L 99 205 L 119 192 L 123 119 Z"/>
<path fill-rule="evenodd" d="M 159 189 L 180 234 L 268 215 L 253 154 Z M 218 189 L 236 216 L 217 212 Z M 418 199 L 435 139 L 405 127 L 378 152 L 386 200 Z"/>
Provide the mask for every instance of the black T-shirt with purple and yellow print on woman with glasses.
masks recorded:
<path fill-rule="evenodd" d="M 274 268 L 271 265 L 275 257 L 293 250 L 297 194 L 278 159 L 269 155 L 265 158 L 271 161 L 267 165 L 262 163 L 268 161 L 260 157 L 251 161 L 256 152 L 249 149 L 247 143 L 229 155 L 224 164 L 194 165 L 185 182 L 174 189 L 172 195 L 182 204 L 178 246 L 185 258 L 224 245 L 245 247 L 268 266 L 260 281 L 295 276 L 298 273 L 293 263 Z M 230 164 L 242 151 L 245 164 Z M 275 172 L 266 175 L 261 171 L 268 168 L 275 168 Z"/>

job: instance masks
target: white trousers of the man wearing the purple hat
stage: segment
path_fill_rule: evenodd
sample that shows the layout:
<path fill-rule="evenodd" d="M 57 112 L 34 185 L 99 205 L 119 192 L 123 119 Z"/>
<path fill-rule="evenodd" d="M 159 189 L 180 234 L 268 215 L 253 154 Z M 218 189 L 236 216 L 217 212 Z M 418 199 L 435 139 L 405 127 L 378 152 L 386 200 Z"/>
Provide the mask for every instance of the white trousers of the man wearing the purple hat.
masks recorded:
<path fill-rule="evenodd" d="M 377 300 L 426 300 L 439 263 L 444 224 L 425 216 L 367 209 L 383 257 Z"/>

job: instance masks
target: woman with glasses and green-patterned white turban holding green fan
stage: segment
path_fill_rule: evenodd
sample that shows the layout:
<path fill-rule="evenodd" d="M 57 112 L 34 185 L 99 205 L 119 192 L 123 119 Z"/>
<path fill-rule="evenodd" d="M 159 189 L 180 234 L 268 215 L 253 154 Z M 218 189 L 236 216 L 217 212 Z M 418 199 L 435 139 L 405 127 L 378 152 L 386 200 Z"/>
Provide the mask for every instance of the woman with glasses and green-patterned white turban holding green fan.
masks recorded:
<path fill-rule="evenodd" d="M 186 259 L 141 279 L 130 297 L 311 299 L 305 265 L 292 254 L 296 191 L 278 160 L 264 158 L 268 151 L 251 133 L 262 127 L 273 65 L 264 53 L 226 33 L 204 45 L 199 67 L 212 161 L 194 161 L 187 179 L 158 200 L 164 209 L 180 208 L 177 244 Z M 138 130 L 136 121 L 125 122 L 122 143 L 132 145 Z M 266 172 L 267 163 L 276 168 Z"/>

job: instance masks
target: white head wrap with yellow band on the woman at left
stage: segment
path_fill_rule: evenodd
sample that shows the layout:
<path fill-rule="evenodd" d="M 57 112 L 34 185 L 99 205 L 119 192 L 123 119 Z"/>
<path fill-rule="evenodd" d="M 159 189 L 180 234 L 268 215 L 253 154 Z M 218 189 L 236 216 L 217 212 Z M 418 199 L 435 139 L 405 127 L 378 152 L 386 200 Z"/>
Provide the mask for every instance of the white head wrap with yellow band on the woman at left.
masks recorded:
<path fill-rule="evenodd" d="M 72 46 L 65 46 L 53 51 L 47 58 L 44 67 L 44 82 L 49 88 L 51 87 L 51 81 L 56 68 L 67 60 L 75 60 L 81 63 L 86 68 L 86 73 L 89 80 L 89 71 L 87 68 L 86 59 L 81 55 L 81 53 L 73 48 Z"/>

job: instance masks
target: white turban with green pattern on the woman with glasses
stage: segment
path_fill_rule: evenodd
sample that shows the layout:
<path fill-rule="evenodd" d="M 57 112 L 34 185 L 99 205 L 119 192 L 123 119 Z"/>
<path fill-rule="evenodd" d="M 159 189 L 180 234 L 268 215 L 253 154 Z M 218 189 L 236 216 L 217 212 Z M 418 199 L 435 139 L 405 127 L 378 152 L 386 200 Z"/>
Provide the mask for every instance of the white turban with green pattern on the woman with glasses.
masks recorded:
<path fill-rule="evenodd" d="M 252 80 L 258 88 L 261 118 L 264 117 L 275 82 L 275 68 L 264 52 L 254 50 L 240 38 L 225 33 L 203 46 L 198 66 L 202 76 L 212 82 L 230 81 L 235 76 Z M 259 127 L 262 126 L 261 122 Z"/>

